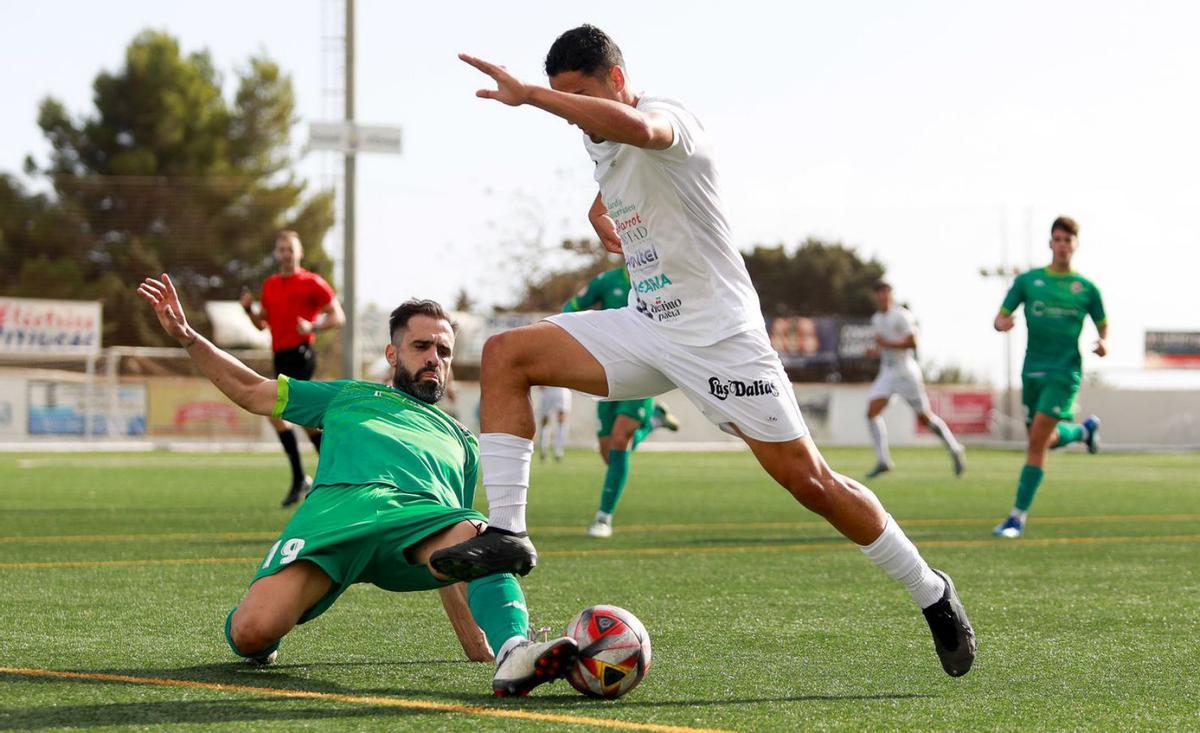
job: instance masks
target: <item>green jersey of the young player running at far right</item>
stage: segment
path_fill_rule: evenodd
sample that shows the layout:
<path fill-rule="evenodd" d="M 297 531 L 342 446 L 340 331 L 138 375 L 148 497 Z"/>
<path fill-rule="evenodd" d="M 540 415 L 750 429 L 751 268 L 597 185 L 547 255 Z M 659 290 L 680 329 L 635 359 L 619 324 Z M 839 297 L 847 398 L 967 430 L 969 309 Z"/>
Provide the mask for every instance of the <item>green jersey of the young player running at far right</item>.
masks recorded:
<path fill-rule="evenodd" d="M 1076 272 L 1038 268 L 1016 276 L 1000 312 L 1009 316 L 1021 304 L 1030 331 L 1021 373 L 1069 372 L 1078 379 L 1082 371 L 1079 334 L 1084 317 L 1091 316 L 1097 328 L 1105 323 L 1100 290 Z"/>

